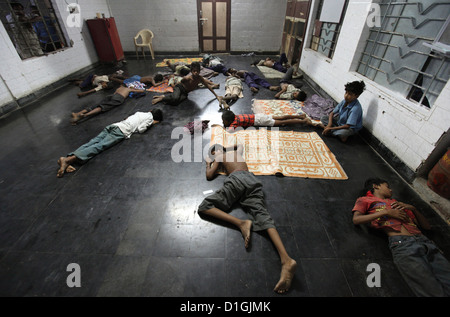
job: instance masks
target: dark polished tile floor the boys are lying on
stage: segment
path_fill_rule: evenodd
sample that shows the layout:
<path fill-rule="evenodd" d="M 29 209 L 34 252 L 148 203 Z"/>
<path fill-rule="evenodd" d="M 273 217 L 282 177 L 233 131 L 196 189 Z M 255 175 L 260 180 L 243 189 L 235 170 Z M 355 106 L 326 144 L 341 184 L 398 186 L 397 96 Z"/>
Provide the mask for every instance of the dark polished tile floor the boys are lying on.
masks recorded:
<path fill-rule="evenodd" d="M 257 57 L 223 59 L 229 67 L 260 74 L 250 66 Z M 161 60 L 129 60 L 120 69 L 130 75 L 168 71 L 155 67 Z M 221 84 L 216 92 L 223 94 L 225 77 L 212 80 Z M 303 89 L 314 93 L 307 85 Z M 235 228 L 196 213 L 203 192 L 220 188 L 224 176 L 208 182 L 204 162 L 171 158 L 180 140 L 172 135 L 176 127 L 196 118 L 220 123 L 213 95 L 197 90 L 171 107 L 152 106 L 154 93 L 149 93 L 73 126 L 71 112 L 106 95 L 79 99 L 77 92 L 67 86 L 0 120 L 0 296 L 281 296 L 272 291 L 280 263 L 268 236 L 253 234 L 246 251 Z M 245 86 L 245 97 L 232 109 L 250 113 L 253 98 L 273 95 L 266 89 L 253 95 Z M 75 173 L 56 177 L 60 156 L 106 125 L 153 107 L 164 111 L 162 123 L 77 166 Z M 203 146 L 209 136 L 207 130 Z M 347 144 L 324 141 L 348 180 L 258 176 L 286 249 L 298 262 L 291 290 L 283 296 L 412 296 L 392 262 L 387 239 L 352 224 L 357 194 L 368 177 L 388 179 L 395 198 L 428 218 L 433 228 L 426 234 L 447 256 L 448 225 L 359 136 Z M 232 214 L 245 217 L 239 207 Z M 79 265 L 81 287 L 67 285 L 70 263 Z M 367 286 L 370 263 L 380 265 L 381 287 Z"/>

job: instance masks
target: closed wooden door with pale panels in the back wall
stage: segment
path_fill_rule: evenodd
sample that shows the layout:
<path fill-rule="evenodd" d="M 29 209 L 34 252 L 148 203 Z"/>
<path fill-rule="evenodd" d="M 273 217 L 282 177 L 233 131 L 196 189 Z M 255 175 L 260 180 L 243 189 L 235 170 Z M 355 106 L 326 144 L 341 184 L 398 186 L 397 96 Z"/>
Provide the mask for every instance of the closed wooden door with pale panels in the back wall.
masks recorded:
<path fill-rule="evenodd" d="M 231 0 L 197 0 L 200 51 L 230 51 Z"/>

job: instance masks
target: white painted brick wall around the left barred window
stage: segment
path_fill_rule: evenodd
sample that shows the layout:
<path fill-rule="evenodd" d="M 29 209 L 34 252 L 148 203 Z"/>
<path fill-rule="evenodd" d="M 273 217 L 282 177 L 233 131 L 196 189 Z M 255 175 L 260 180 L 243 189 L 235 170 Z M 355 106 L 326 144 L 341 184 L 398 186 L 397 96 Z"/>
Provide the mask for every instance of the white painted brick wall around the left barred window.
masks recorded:
<path fill-rule="evenodd" d="M 68 1 L 71 3 L 74 1 Z M 65 0 L 52 1 L 55 11 L 61 16 L 69 40 L 73 47 L 47 56 L 22 60 L 17 54 L 3 24 L 0 25 L 0 105 L 25 97 L 33 91 L 52 84 L 71 73 L 98 61 L 97 53 L 86 23 L 82 27 L 68 27 Z M 108 13 L 106 0 L 79 0 L 81 21 L 95 17 L 96 12 Z M 107 14 L 108 16 L 108 14 Z"/>

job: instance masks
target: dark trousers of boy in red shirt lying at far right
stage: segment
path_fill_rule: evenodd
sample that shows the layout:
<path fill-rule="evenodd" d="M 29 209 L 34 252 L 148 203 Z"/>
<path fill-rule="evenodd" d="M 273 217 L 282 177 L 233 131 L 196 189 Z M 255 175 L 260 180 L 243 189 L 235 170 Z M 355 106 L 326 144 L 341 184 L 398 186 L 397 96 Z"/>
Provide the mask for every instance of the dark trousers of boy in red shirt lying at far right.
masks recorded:
<path fill-rule="evenodd" d="M 389 237 L 394 263 L 416 296 L 450 296 L 450 263 L 423 235 Z"/>

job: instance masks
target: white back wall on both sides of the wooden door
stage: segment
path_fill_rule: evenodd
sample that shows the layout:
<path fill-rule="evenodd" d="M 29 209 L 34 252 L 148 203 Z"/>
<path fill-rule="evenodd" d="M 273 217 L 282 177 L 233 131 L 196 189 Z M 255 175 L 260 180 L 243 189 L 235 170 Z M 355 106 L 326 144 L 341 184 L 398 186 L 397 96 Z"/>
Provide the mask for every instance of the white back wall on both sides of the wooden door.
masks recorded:
<path fill-rule="evenodd" d="M 160 52 L 199 51 L 197 0 L 108 0 L 123 50 L 133 52 L 141 29 Z M 278 52 L 287 0 L 231 0 L 231 51 Z"/>

